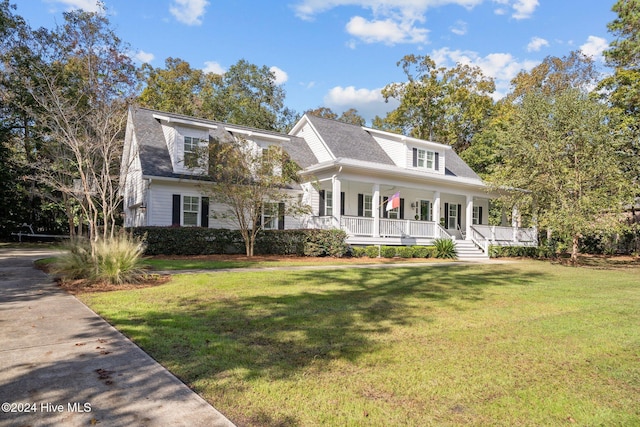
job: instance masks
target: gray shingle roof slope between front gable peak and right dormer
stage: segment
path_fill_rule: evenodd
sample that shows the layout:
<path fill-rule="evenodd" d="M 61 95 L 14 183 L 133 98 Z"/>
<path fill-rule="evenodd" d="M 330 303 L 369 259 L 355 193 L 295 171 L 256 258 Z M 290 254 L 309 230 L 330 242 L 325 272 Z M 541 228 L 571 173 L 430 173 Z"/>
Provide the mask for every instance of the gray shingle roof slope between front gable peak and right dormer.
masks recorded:
<path fill-rule="evenodd" d="M 309 114 L 307 114 L 307 118 L 336 158 L 363 160 L 385 165 L 395 164 L 371 134 L 361 126 Z"/>

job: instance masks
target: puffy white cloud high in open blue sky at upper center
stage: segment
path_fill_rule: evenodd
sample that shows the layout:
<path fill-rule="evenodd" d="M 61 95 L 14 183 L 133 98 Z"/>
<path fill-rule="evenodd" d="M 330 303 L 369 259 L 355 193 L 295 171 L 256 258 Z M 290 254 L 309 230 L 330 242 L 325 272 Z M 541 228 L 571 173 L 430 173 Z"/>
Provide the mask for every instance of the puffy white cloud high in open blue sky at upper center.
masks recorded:
<path fill-rule="evenodd" d="M 366 43 L 424 43 L 427 30 L 416 28 L 409 22 L 394 22 L 391 19 L 368 21 L 354 16 L 347 24 L 347 32 Z"/>

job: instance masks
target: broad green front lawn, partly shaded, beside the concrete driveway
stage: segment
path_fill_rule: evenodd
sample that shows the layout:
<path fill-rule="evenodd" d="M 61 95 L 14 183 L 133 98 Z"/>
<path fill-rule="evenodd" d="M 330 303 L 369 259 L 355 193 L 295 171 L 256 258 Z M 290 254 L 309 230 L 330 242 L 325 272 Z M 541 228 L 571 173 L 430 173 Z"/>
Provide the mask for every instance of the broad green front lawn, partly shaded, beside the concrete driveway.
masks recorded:
<path fill-rule="evenodd" d="M 640 425 L 640 269 L 177 275 L 81 298 L 239 425 Z"/>

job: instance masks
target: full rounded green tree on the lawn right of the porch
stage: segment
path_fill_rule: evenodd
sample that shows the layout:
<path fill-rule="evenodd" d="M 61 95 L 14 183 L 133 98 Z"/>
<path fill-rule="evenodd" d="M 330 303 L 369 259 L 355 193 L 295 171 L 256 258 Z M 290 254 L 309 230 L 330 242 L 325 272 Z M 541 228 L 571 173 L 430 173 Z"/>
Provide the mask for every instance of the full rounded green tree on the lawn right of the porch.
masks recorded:
<path fill-rule="evenodd" d="M 498 133 L 502 164 L 496 186 L 527 189 L 504 198 L 528 209 L 541 227 L 570 241 L 575 262 L 587 230 L 606 227 L 629 201 L 618 150 L 623 139 L 610 124 L 614 112 L 577 89 L 523 95 Z"/>

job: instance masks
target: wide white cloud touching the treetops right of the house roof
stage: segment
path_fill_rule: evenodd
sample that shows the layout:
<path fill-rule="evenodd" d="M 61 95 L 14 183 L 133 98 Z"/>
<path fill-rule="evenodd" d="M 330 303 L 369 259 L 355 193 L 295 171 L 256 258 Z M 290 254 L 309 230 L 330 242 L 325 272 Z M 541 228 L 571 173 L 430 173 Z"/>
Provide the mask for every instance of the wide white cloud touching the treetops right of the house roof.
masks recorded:
<path fill-rule="evenodd" d="M 496 100 L 509 92 L 511 80 L 520 71 L 530 71 L 539 64 L 538 61 L 518 61 L 510 53 L 490 53 L 486 56 L 480 56 L 477 52 L 448 48 L 435 50 L 430 56 L 439 66 L 451 67 L 456 63 L 461 63 L 479 67 L 484 75 L 495 79 L 496 91 L 492 97 Z"/>

